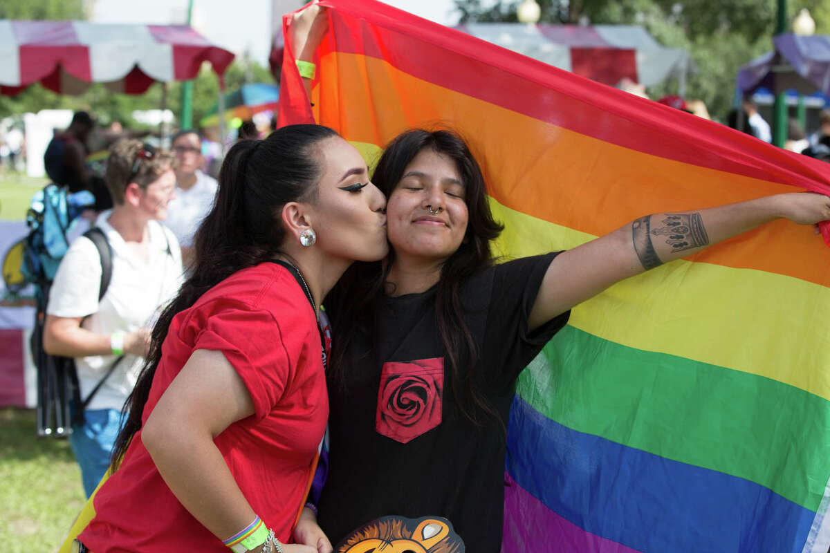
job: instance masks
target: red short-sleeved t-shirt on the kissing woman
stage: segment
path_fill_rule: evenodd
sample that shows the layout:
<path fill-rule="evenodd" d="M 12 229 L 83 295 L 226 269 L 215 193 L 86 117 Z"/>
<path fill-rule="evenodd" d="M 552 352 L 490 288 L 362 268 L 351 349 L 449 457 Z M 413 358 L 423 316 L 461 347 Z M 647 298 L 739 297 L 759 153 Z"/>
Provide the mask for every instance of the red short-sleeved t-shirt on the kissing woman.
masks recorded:
<path fill-rule="evenodd" d="M 243 269 L 208 290 L 170 324 L 143 423 L 197 349 L 224 353 L 251 393 L 255 414 L 214 441 L 254 512 L 289 542 L 329 415 L 310 303 L 294 277 L 273 263 Z M 227 551 L 170 492 L 140 431 L 96 494 L 95 512 L 80 536 L 95 553 Z"/>

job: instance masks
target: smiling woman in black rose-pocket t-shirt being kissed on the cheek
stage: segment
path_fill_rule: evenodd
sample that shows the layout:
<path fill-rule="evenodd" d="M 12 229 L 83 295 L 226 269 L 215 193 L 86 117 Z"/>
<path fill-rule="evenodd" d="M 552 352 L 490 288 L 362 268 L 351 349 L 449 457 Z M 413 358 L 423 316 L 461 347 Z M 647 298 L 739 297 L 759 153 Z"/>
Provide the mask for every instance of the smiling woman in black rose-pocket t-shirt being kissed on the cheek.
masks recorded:
<path fill-rule="evenodd" d="M 494 265 L 502 227 L 461 138 L 403 133 L 373 180 L 388 198 L 390 254 L 349 269 L 325 302 L 334 355 L 319 521 L 332 543 L 377 517 L 430 515 L 452 521 L 466 551 L 496 553 L 513 385 L 569 309 L 776 218 L 830 219 L 827 196 L 782 194 L 642 216 L 559 255 Z"/>

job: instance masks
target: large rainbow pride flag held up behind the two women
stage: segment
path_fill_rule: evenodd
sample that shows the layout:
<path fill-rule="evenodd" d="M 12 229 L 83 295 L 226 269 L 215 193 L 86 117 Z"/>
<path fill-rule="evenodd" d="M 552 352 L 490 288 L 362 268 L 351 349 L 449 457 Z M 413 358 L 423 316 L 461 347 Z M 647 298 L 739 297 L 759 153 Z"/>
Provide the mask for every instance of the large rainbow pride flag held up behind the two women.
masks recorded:
<path fill-rule="evenodd" d="M 404 129 L 456 129 L 506 256 L 647 213 L 830 193 L 828 164 L 380 2 L 320 3 L 314 105 L 286 49 L 281 123 L 329 125 L 370 165 Z M 783 220 L 574 308 L 518 383 L 503 551 L 826 553 L 828 323 L 830 250 Z"/>

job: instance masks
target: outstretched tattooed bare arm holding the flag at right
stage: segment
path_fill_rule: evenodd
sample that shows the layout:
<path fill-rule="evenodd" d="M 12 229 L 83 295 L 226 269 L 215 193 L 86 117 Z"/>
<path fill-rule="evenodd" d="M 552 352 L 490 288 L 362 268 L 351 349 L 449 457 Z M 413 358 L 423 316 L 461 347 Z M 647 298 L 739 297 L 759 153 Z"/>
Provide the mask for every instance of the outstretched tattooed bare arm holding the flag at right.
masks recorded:
<path fill-rule="evenodd" d="M 640 217 L 551 261 L 528 325 L 533 330 L 620 280 L 782 217 L 801 225 L 828 221 L 830 197 L 796 192 Z"/>

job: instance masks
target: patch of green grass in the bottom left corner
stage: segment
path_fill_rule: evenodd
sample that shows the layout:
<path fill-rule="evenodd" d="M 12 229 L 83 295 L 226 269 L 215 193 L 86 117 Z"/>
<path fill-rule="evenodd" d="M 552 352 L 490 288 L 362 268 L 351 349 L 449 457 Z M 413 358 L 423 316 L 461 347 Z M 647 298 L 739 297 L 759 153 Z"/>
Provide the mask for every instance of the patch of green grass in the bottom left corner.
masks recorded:
<path fill-rule="evenodd" d="M 35 411 L 0 409 L 2 551 L 57 551 L 85 503 L 66 439 L 37 438 Z"/>

